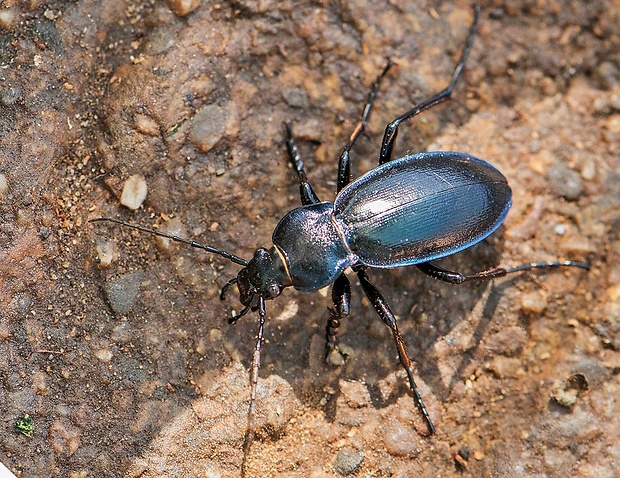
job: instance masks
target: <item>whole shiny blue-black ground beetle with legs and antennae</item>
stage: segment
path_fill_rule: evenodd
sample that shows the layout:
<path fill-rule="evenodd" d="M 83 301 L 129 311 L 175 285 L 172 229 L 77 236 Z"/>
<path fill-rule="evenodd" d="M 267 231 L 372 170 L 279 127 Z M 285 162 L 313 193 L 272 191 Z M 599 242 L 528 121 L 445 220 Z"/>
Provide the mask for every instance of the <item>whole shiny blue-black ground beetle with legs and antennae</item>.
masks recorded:
<path fill-rule="evenodd" d="M 513 268 L 497 267 L 474 274 L 442 269 L 431 261 L 466 249 L 495 231 L 504 221 L 511 205 L 511 190 L 506 178 L 495 167 L 473 156 L 455 152 L 408 154 L 392 159 L 392 148 L 399 125 L 422 111 L 445 101 L 459 78 L 471 49 L 479 8 L 448 86 L 427 101 L 392 121 L 386 128 L 379 153 L 379 166 L 351 182 L 349 153 L 364 131 L 370 111 L 391 63 L 372 86 L 361 120 L 340 156 L 338 194 L 334 202 L 322 202 L 308 182 L 304 163 L 287 125 L 287 147 L 291 163 L 299 178 L 302 207 L 284 216 L 273 233 L 273 247 L 260 247 L 246 261 L 234 254 L 159 231 L 110 221 L 157 236 L 166 237 L 207 252 L 219 254 L 243 266 L 237 277 L 222 288 L 221 298 L 234 284 L 244 309 L 229 319 L 235 322 L 249 310 L 258 310 L 259 328 L 252 358 L 251 396 L 246 432 L 246 450 L 254 428 L 254 402 L 260 366 L 260 351 L 265 324 L 265 300 L 280 295 L 293 286 L 301 291 L 316 291 L 333 284 L 331 317 L 327 325 L 326 357 L 337 346 L 340 320 L 349 314 L 351 286 L 344 270 L 351 268 L 358 276 L 364 293 L 385 324 L 390 328 L 400 362 L 407 372 L 409 387 L 420 410 L 428 434 L 435 427 L 422 402 L 413 378 L 413 364 L 403 336 L 387 302 L 370 282 L 368 268 L 390 269 L 415 265 L 425 274 L 451 284 L 490 280 L 506 274 L 538 268 L 561 266 L 589 269 L 576 261 L 540 262 Z"/>

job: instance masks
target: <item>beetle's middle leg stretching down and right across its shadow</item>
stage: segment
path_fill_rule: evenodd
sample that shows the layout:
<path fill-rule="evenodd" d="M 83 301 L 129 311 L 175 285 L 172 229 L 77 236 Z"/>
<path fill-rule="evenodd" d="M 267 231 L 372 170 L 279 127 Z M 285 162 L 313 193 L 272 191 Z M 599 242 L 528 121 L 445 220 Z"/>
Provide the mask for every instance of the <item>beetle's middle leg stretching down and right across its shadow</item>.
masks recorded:
<path fill-rule="evenodd" d="M 415 384 L 415 380 L 413 378 L 413 362 L 409 357 L 409 353 L 407 352 L 407 345 L 405 344 L 405 339 L 401 335 L 398 330 L 398 326 L 396 325 L 396 317 L 390 310 L 390 306 L 387 304 L 381 292 L 368 280 L 368 275 L 364 269 L 354 269 L 357 272 L 357 275 L 360 279 L 360 284 L 364 289 L 364 293 L 370 300 L 370 303 L 373 305 L 375 311 L 381 317 L 381 320 L 385 322 L 385 324 L 392 331 L 392 336 L 394 337 L 394 342 L 396 343 L 396 348 L 398 350 L 398 357 L 400 358 L 400 363 L 407 372 L 407 378 L 409 379 L 409 388 L 411 388 L 411 392 L 413 393 L 415 403 L 420 410 L 420 413 L 424 417 L 424 421 L 426 422 L 426 426 L 428 427 L 428 435 L 435 434 L 435 427 L 433 426 L 433 422 L 431 422 L 431 418 L 428 415 L 428 411 L 426 410 L 426 406 L 424 406 L 424 402 L 422 401 L 422 397 L 420 396 L 420 392 L 418 391 L 418 387 Z"/>

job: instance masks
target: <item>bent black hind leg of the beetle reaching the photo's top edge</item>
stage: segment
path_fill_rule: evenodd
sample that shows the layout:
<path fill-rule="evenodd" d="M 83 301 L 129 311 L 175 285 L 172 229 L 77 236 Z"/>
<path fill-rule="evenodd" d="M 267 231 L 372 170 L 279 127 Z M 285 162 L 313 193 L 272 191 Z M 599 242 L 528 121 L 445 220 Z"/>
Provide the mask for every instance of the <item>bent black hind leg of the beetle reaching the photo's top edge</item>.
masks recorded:
<path fill-rule="evenodd" d="M 396 140 L 396 136 L 398 135 L 398 126 L 400 125 L 400 123 L 450 98 L 454 85 L 456 84 L 456 81 L 458 80 L 461 72 L 463 71 L 463 68 L 465 67 L 467 56 L 469 55 L 469 51 L 471 50 L 471 46 L 474 42 L 474 36 L 476 33 L 476 26 L 478 24 L 479 16 L 480 7 L 476 6 L 474 7 L 474 20 L 471 24 L 471 27 L 469 28 L 469 34 L 467 36 L 467 41 L 465 42 L 465 47 L 463 48 L 461 58 L 457 63 L 456 68 L 454 69 L 454 73 L 452 73 L 452 78 L 450 79 L 450 83 L 448 84 L 448 86 L 432 98 L 424 101 L 412 110 L 407 111 L 404 115 L 399 116 L 394 121 L 392 121 L 387 126 L 387 128 L 385 128 L 385 133 L 383 134 L 383 141 L 381 143 L 381 151 L 379 153 L 379 164 L 383 164 L 392 160 L 392 149 L 394 148 L 394 141 Z"/>

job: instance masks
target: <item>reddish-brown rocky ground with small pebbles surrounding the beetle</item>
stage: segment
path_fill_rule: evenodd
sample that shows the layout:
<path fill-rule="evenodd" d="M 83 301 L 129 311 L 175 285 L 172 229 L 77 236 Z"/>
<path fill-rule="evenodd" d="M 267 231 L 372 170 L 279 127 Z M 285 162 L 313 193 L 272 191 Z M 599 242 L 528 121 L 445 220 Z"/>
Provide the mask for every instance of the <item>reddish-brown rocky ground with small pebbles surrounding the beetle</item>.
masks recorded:
<path fill-rule="evenodd" d="M 442 264 L 592 269 L 471 286 L 370 271 L 417 362 L 432 438 L 360 288 L 340 367 L 322 362 L 327 292 L 285 291 L 267 304 L 247 476 L 620 466 L 620 5 L 481 6 L 453 100 L 396 146 L 468 152 L 513 189 L 505 227 Z M 3 2 L 0 462 L 24 477 L 239 476 L 257 321 L 229 326 L 236 289 L 218 299 L 238 267 L 87 221 L 251 257 L 299 204 L 283 123 L 332 199 L 386 58 L 355 175 L 376 165 L 389 121 L 447 84 L 471 18 L 465 1 Z M 136 200 L 128 182 L 147 192 L 137 210 L 121 204 Z M 26 414 L 30 437 L 15 427 Z"/>

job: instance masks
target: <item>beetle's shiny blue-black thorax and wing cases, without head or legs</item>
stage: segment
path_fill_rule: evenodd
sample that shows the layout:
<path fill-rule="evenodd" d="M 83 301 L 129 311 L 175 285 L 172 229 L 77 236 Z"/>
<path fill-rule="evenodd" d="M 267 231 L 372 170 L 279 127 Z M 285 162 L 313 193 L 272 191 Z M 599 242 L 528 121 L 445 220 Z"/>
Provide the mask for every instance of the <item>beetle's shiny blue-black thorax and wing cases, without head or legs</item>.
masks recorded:
<path fill-rule="evenodd" d="M 510 204 L 506 178 L 489 163 L 461 153 L 409 154 L 349 183 L 333 203 L 284 216 L 273 233 L 285 272 L 278 280 L 315 291 L 347 267 L 440 259 L 491 234 Z"/>

